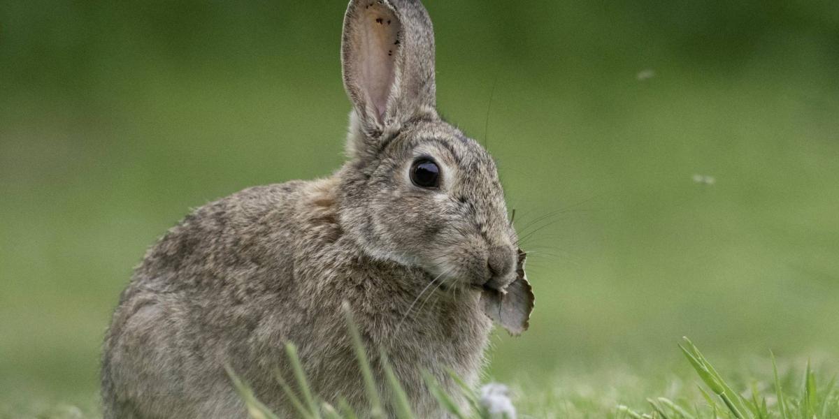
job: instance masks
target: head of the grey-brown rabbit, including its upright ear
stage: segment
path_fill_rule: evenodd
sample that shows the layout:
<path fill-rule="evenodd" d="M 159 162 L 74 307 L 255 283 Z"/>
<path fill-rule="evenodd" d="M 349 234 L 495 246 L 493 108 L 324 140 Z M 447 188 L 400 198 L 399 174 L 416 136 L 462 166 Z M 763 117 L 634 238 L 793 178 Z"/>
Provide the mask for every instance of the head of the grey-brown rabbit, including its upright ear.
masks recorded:
<path fill-rule="evenodd" d="M 447 286 L 501 289 L 516 235 L 490 155 L 435 109 L 435 49 L 419 0 L 352 0 L 341 45 L 354 109 L 341 225 L 371 256 Z"/>

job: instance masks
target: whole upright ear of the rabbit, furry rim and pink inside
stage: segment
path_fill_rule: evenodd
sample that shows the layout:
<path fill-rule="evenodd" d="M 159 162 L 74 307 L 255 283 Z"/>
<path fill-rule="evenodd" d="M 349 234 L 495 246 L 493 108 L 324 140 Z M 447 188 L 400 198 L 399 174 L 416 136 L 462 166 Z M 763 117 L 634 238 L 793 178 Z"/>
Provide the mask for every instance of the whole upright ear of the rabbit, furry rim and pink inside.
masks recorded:
<path fill-rule="evenodd" d="M 344 86 L 367 136 L 436 113 L 434 31 L 420 0 L 352 0 L 341 41 Z"/>

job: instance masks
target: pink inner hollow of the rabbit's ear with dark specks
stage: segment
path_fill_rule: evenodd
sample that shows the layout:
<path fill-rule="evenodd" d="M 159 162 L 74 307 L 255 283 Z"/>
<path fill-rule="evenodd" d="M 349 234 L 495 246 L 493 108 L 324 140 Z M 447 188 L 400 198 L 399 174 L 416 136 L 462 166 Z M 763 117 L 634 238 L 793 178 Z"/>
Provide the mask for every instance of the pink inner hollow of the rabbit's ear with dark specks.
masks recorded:
<path fill-rule="evenodd" d="M 364 5 L 360 20 L 356 26 L 360 87 L 382 121 L 395 77 L 393 59 L 400 46 L 399 20 L 378 1 Z"/>

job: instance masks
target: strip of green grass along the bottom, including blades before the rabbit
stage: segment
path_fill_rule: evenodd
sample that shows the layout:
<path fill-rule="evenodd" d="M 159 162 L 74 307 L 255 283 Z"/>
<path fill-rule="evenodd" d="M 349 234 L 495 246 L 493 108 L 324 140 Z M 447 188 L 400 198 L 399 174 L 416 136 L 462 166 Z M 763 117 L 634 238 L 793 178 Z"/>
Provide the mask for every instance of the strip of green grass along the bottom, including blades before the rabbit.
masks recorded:
<path fill-rule="evenodd" d="M 373 383 L 365 349 L 357 332 L 350 329 L 356 343 L 367 393 L 373 403 L 369 417 L 383 417 L 381 398 Z M 620 418 L 620 419 L 831 419 L 839 418 L 839 391 L 836 387 L 835 360 L 810 363 L 809 360 L 776 361 L 774 354 L 766 358 L 749 356 L 725 363 L 729 373 L 723 375 L 685 339 L 680 345 L 685 361 L 675 365 L 657 365 L 650 360 L 647 367 L 612 365 L 586 370 L 557 371 L 550 385 L 533 380 L 515 380 L 513 404 L 519 418 Z M 674 351 L 678 351 L 674 347 Z M 353 419 L 362 416 L 348 406 L 330 406 L 310 391 L 300 367 L 294 345 L 287 348 L 293 366 L 294 380 L 278 379 L 284 391 L 305 419 Z M 387 358 L 384 357 L 384 360 Z M 385 361 L 387 362 L 387 361 Z M 819 365 L 819 366 L 814 366 Z M 387 364 L 386 371 L 389 371 Z M 271 411 L 260 403 L 248 388 L 228 370 L 232 385 L 237 388 L 253 419 L 274 419 Z M 460 411 L 435 381 L 428 381 L 441 406 L 454 417 L 487 419 L 478 409 Z M 404 392 L 393 374 L 388 373 L 388 386 L 397 395 L 393 411 L 398 419 L 413 419 Z M 480 406 L 478 396 L 469 389 L 466 396 L 471 406 Z M 75 405 L 39 400 L 30 395 L 23 404 L 0 403 L 2 419 L 94 419 L 99 416 L 95 396 Z M 495 419 L 495 418 L 492 418 Z"/>

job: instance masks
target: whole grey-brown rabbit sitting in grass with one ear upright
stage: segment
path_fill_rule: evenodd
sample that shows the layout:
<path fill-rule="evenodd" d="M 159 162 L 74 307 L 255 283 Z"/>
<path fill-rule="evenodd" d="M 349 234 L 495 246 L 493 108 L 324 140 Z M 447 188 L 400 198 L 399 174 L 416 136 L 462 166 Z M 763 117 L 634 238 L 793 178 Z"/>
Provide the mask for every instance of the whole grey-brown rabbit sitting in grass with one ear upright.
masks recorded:
<path fill-rule="evenodd" d="M 423 371 L 466 407 L 449 370 L 477 385 L 492 319 L 509 312 L 503 296 L 529 292 L 511 286 L 523 257 L 496 165 L 436 111 L 419 0 L 352 0 L 341 64 L 347 162 L 206 204 L 149 248 L 103 345 L 106 419 L 247 417 L 226 368 L 280 417 L 297 416 L 277 380 L 293 376 L 289 342 L 322 401 L 369 411 L 342 307 L 384 401 L 378 349 L 416 416 L 446 417 Z"/>

